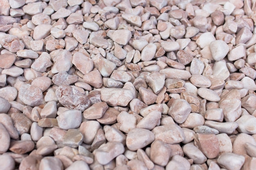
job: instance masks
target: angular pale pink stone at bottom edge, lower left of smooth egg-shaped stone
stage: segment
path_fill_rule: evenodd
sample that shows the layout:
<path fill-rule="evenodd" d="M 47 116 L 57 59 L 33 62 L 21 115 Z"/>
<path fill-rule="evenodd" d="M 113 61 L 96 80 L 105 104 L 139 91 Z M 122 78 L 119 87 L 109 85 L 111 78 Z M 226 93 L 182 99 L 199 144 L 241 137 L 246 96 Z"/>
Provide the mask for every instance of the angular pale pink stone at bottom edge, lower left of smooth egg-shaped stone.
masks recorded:
<path fill-rule="evenodd" d="M 106 165 L 122 153 L 124 153 L 124 146 L 119 142 L 108 142 L 94 150 L 95 158 L 101 165 Z"/>

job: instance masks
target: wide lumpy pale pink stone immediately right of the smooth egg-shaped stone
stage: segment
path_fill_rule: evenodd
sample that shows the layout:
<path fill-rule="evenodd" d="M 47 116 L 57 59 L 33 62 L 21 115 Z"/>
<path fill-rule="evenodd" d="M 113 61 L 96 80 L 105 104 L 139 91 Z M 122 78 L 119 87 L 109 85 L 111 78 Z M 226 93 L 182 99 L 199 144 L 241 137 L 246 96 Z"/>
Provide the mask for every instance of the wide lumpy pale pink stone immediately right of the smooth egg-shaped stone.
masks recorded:
<path fill-rule="evenodd" d="M 167 144 L 178 144 L 185 139 L 182 128 L 176 124 L 156 126 L 152 132 L 155 140 L 160 139 Z"/>

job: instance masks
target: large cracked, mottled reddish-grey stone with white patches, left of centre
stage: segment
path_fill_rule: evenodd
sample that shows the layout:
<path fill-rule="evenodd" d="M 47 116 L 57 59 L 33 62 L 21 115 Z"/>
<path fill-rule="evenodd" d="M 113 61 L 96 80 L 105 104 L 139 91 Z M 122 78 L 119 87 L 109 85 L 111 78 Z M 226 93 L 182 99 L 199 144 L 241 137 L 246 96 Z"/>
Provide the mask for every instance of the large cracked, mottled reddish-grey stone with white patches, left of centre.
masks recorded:
<path fill-rule="evenodd" d="M 59 102 L 69 109 L 84 111 L 91 105 L 88 97 L 72 86 L 59 86 L 56 96 Z"/>

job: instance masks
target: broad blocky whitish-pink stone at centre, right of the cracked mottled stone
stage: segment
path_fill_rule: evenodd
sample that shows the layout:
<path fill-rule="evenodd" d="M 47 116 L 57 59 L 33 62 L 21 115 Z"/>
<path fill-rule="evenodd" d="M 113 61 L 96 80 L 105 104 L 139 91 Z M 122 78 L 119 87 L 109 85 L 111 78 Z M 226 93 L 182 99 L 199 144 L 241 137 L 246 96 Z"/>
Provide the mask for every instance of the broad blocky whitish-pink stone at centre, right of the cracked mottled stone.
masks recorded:
<path fill-rule="evenodd" d="M 110 106 L 127 106 L 133 99 L 132 92 L 124 88 L 101 89 L 101 100 Z"/>

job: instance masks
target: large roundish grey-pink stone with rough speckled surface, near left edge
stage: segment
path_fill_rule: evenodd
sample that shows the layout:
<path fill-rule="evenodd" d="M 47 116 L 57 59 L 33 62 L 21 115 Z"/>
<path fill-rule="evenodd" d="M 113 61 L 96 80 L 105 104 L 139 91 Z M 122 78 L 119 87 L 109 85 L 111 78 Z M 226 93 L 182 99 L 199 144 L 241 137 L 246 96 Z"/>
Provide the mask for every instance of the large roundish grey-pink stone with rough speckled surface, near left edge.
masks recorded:
<path fill-rule="evenodd" d="M 31 106 L 39 106 L 43 104 L 43 93 L 40 88 L 29 84 L 23 84 L 18 91 L 19 99 Z"/>

